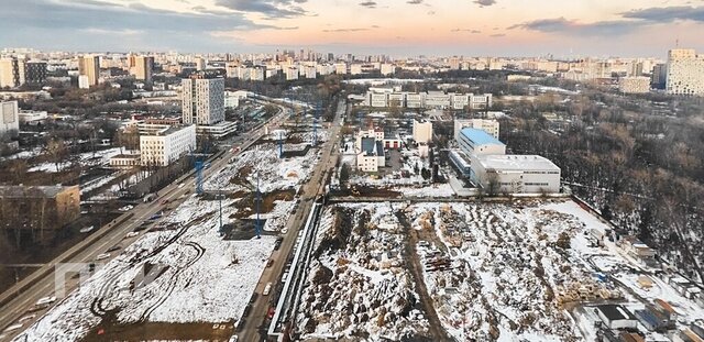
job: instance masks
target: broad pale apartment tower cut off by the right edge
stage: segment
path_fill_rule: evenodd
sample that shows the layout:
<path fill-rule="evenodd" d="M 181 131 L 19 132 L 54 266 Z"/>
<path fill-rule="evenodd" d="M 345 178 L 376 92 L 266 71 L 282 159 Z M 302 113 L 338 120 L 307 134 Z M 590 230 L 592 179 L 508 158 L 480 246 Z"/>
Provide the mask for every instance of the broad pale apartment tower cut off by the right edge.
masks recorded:
<path fill-rule="evenodd" d="M 672 95 L 704 95 L 704 55 L 693 48 L 668 52 L 667 91 Z"/>

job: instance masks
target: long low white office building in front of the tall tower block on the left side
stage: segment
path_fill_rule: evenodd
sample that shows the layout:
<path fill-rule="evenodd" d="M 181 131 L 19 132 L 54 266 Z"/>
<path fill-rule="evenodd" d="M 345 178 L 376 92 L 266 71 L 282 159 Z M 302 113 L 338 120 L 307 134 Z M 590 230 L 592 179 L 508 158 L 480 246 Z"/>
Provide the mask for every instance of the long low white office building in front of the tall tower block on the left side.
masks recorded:
<path fill-rule="evenodd" d="M 142 165 L 167 166 L 196 150 L 196 125 L 164 125 L 152 134 L 140 135 Z"/>

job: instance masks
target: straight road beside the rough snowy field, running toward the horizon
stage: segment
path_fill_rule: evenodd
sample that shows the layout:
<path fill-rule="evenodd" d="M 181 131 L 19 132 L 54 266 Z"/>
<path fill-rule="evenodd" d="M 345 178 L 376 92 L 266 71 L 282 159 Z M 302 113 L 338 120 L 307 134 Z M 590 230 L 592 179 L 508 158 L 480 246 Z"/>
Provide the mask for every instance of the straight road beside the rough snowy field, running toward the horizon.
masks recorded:
<path fill-rule="evenodd" d="M 256 300 L 252 305 L 252 310 L 245 318 L 244 327 L 238 334 L 240 341 L 249 342 L 265 339 L 264 330 L 268 327 L 264 327 L 263 324 L 266 320 L 268 308 L 275 305 L 270 304 L 270 301 L 277 298 L 274 297 L 274 293 L 270 296 L 263 296 L 262 291 L 264 290 L 264 287 L 266 287 L 267 283 L 272 283 L 272 288 L 276 288 L 276 285 L 280 282 L 284 267 L 286 266 L 288 258 L 292 256 L 298 231 L 306 223 L 306 219 L 310 213 L 316 198 L 319 195 L 324 194 L 326 176 L 328 175 L 327 172 L 334 167 L 337 163 L 337 144 L 339 142 L 338 134 L 340 133 L 340 120 L 345 110 L 346 106 L 343 101 L 340 101 L 338 103 L 337 114 L 329 131 L 330 134 L 328 141 L 320 147 L 322 156 L 318 164 L 316 164 L 310 180 L 302 186 L 302 195 L 300 196 L 298 210 L 286 225 L 288 232 L 284 235 L 280 249 L 278 251 L 274 251 L 272 254 L 274 263 L 271 267 L 264 269 L 258 284 L 256 285 L 255 291 L 260 294 L 260 296 L 257 296 Z M 262 332 L 262 334 L 260 334 L 260 332 Z"/>

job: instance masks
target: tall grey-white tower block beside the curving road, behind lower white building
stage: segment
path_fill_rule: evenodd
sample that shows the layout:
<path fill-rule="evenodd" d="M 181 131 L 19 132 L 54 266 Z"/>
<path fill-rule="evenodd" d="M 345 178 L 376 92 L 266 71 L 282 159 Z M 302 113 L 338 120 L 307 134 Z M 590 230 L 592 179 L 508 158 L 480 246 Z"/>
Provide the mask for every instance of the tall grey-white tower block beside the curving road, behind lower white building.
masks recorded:
<path fill-rule="evenodd" d="M 184 123 L 211 125 L 224 121 L 224 79 L 193 75 L 182 80 Z"/>

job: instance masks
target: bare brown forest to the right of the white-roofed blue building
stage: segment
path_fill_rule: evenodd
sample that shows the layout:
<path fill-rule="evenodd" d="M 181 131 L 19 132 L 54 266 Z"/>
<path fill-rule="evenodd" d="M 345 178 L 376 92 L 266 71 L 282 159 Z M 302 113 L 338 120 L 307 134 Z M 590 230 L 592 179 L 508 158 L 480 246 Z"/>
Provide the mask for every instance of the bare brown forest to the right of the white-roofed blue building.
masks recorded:
<path fill-rule="evenodd" d="M 501 140 L 514 153 L 550 158 L 573 194 L 702 279 L 703 99 L 586 89 L 540 95 L 507 111 Z"/>

